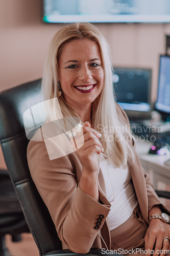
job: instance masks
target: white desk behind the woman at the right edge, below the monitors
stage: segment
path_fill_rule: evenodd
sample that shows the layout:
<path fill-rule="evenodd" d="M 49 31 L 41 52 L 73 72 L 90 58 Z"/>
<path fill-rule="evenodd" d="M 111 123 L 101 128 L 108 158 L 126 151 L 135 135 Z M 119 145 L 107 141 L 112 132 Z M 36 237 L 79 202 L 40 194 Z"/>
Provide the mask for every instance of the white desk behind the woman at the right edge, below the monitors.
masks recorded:
<path fill-rule="evenodd" d="M 148 154 L 151 145 L 152 142 L 136 142 L 136 149 L 141 165 L 145 172 L 150 174 L 155 189 L 160 189 L 158 187 L 158 181 L 170 186 L 170 166 L 164 164 L 166 160 L 170 159 L 170 155 L 159 156 Z"/>

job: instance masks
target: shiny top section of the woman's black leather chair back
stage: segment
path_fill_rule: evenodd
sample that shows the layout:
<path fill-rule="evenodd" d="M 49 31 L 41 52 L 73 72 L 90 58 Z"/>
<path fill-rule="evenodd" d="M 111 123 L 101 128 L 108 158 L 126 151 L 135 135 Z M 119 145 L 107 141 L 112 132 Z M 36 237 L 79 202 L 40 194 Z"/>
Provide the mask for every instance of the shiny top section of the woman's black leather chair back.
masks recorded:
<path fill-rule="evenodd" d="M 0 93 L 0 137 L 10 138 L 25 132 L 23 113 L 42 101 L 41 79 L 21 84 Z"/>

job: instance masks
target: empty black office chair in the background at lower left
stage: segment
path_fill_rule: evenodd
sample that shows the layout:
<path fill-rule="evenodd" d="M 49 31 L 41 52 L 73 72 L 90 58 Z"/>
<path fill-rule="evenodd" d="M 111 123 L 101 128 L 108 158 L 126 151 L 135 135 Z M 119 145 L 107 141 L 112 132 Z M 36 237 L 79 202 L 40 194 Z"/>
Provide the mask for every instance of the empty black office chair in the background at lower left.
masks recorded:
<path fill-rule="evenodd" d="M 23 216 L 9 173 L 0 169 L 0 256 L 10 256 L 6 248 L 5 235 L 10 234 L 13 242 L 21 240 L 22 232 L 30 232 Z"/>

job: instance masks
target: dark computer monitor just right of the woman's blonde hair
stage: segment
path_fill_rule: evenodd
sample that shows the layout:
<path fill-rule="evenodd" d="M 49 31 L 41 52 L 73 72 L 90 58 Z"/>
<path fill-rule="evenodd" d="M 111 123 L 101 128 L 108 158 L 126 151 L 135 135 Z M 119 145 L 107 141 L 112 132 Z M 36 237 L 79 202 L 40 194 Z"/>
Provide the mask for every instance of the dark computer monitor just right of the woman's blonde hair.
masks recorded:
<path fill-rule="evenodd" d="M 151 69 L 114 68 L 116 101 L 124 110 L 151 110 Z"/>

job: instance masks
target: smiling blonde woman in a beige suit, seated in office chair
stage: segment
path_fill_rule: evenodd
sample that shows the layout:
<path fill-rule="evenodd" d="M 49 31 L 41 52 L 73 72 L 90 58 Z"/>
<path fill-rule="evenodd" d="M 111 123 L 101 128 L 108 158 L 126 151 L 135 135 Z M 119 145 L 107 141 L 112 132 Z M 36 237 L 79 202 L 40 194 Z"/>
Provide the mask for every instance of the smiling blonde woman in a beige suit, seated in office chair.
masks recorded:
<path fill-rule="evenodd" d="M 42 141 L 30 141 L 28 163 L 63 249 L 145 248 L 150 255 L 154 244 L 155 251 L 169 248 L 169 225 L 156 215 L 168 210 L 143 173 L 128 118 L 114 101 L 110 55 L 93 25 L 72 24 L 57 32 L 44 68 L 44 99 L 58 97 L 61 112 L 50 103 L 50 120 L 61 113 L 80 118 L 84 143 L 77 132 L 70 142 L 76 139 L 82 146 L 50 160 L 42 136 Z M 52 139 L 50 143 L 60 155 L 60 147 Z"/>

